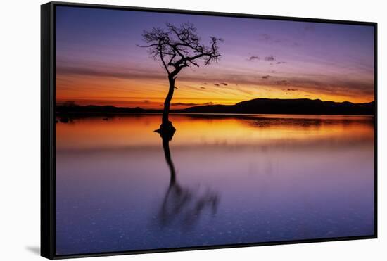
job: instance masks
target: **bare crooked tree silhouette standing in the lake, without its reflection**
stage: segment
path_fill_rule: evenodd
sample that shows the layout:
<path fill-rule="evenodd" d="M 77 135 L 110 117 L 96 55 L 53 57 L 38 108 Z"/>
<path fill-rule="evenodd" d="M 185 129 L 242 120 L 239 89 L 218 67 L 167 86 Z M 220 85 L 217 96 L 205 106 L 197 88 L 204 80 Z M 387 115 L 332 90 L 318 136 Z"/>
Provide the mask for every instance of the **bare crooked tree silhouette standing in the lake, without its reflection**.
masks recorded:
<path fill-rule="evenodd" d="M 199 67 L 199 60 L 202 60 L 204 65 L 209 65 L 213 61 L 216 63 L 221 56 L 218 42 L 222 41 L 220 38 L 210 37 L 210 44 L 206 46 L 201 44 L 201 38 L 196 34 L 196 27 L 193 24 L 183 23 L 180 27 L 169 23 L 165 25 L 166 29 L 153 27 L 151 31 L 144 30 L 142 37 L 147 45 L 140 46 L 148 48 L 153 59 L 161 61 L 170 84 L 160 129 L 156 130 L 160 134 L 175 132 L 168 115 L 177 75 L 185 67 Z"/>

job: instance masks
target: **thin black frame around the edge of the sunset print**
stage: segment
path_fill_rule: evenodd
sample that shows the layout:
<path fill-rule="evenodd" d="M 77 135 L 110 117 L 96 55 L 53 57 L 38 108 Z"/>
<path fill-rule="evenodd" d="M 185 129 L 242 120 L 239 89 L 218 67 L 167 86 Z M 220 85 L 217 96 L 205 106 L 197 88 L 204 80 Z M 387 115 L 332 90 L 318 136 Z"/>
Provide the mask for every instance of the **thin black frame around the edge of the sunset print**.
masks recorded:
<path fill-rule="evenodd" d="M 75 6 L 81 8 L 102 8 L 127 11 L 147 11 L 158 13 L 180 13 L 195 15 L 215 15 L 234 18 L 265 18 L 269 20 L 291 20 L 313 23 L 335 23 L 347 25 L 368 25 L 374 28 L 374 235 L 338 238 L 317 238 L 295 241 L 274 241 L 265 243 L 241 243 L 219 246 L 198 246 L 184 248 L 164 248 L 153 250 L 130 250 L 108 253 L 84 253 L 81 255 L 56 255 L 56 6 Z M 208 11 L 186 11 L 161 8 L 141 8 L 129 6 L 110 6 L 101 4 L 75 4 L 68 2 L 49 2 L 41 6 L 41 255 L 49 259 L 70 257 L 96 257 L 108 255 L 127 255 L 139 253 L 160 253 L 182 250 L 203 250 L 217 248 L 239 248 L 247 246 L 267 246 L 293 243 L 313 243 L 325 241 L 348 241 L 355 239 L 377 238 L 377 23 L 326 20 L 315 18 L 295 18 L 272 15 L 251 15 L 242 13 L 217 13 Z"/>

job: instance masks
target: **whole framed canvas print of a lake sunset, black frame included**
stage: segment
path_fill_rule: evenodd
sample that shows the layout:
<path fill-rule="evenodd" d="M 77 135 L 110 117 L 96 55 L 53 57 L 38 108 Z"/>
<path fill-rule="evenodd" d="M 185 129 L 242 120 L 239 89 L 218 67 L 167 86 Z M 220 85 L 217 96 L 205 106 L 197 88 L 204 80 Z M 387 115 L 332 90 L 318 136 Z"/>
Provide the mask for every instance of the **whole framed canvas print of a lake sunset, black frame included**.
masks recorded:
<path fill-rule="evenodd" d="M 376 23 L 42 5 L 42 256 L 376 238 Z"/>

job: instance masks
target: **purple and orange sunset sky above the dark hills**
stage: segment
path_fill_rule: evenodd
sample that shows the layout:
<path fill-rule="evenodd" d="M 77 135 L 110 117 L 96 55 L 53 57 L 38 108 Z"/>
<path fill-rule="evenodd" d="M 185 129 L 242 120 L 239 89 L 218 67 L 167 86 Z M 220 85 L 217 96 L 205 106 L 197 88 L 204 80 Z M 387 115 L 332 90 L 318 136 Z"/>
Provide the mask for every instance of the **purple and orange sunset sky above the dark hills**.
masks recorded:
<path fill-rule="evenodd" d="M 141 34 L 194 23 L 219 63 L 184 68 L 172 108 L 253 98 L 374 101 L 374 27 L 56 7 L 58 103 L 161 108 L 168 82 Z"/>

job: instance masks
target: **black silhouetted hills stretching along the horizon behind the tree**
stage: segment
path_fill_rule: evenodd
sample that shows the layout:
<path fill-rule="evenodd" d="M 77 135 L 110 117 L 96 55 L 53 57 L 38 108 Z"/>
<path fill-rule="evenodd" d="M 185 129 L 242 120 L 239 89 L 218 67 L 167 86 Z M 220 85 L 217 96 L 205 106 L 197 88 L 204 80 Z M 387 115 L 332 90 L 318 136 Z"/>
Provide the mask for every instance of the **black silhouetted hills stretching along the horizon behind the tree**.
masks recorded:
<path fill-rule="evenodd" d="M 123 108 L 115 106 L 56 106 L 57 113 L 161 113 L 163 110 Z M 350 103 L 344 101 L 311 100 L 309 98 L 279 99 L 255 98 L 234 105 L 194 106 L 171 113 L 246 113 L 246 114 L 321 114 L 321 115 L 374 115 L 375 102 Z"/>

